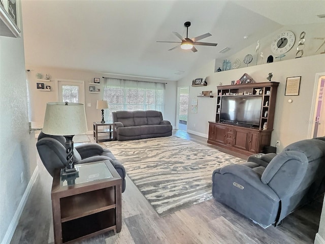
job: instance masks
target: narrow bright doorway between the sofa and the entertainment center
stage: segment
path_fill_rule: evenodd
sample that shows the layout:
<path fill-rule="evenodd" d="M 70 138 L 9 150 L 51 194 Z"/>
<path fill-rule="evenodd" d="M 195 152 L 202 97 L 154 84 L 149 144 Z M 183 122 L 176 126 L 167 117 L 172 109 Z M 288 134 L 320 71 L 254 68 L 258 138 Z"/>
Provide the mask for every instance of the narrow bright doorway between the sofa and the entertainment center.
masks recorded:
<path fill-rule="evenodd" d="M 178 87 L 177 89 L 177 129 L 187 131 L 187 111 L 188 111 L 189 88 Z"/>

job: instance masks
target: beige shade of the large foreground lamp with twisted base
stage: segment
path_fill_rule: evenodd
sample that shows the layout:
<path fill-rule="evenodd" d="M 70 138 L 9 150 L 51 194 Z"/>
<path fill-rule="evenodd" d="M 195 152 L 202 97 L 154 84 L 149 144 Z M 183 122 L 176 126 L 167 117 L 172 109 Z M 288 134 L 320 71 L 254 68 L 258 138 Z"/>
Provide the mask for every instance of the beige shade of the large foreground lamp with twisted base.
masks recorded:
<path fill-rule="evenodd" d="M 71 136 L 87 132 L 85 106 L 81 103 L 47 103 L 43 133 Z"/>

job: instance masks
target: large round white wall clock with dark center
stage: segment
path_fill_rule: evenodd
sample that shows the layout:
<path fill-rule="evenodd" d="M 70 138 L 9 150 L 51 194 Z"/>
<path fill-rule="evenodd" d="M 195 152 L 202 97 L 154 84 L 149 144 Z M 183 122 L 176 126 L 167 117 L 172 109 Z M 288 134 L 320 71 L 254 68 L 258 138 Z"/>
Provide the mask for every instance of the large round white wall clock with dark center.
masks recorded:
<path fill-rule="evenodd" d="M 283 31 L 276 35 L 271 43 L 271 50 L 275 54 L 283 54 L 293 48 L 295 44 L 295 34 L 290 31 Z"/>

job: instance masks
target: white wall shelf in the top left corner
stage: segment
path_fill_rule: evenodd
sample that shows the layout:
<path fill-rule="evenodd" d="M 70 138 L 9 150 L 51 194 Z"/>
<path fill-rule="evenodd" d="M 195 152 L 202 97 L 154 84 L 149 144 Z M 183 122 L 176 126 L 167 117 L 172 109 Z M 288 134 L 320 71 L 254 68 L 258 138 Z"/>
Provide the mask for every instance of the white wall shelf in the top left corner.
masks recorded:
<path fill-rule="evenodd" d="M 20 29 L 10 17 L 5 7 L 0 4 L 0 36 L 20 37 Z"/>

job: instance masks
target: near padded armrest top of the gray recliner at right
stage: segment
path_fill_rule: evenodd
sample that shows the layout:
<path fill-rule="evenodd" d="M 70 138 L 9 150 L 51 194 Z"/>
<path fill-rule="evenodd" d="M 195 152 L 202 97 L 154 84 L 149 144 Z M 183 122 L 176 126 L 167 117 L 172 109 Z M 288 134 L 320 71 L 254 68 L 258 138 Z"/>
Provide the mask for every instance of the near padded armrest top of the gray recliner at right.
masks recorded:
<path fill-rule="evenodd" d="M 240 164 L 230 164 L 226 165 L 221 169 L 217 169 L 213 171 L 213 175 L 215 173 L 220 174 L 232 174 L 235 178 L 240 178 L 245 181 L 250 187 L 258 190 L 259 192 L 267 195 L 269 198 L 279 201 L 278 195 L 270 188 L 267 184 L 264 184 L 261 181 L 261 176 L 259 176 L 254 170 L 251 168 L 240 165 Z M 245 185 L 243 186 L 245 188 Z"/>

